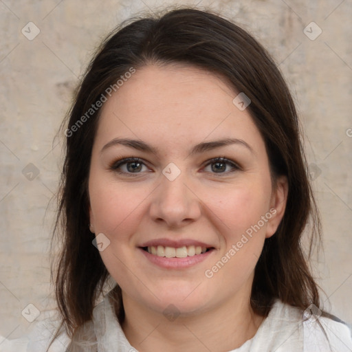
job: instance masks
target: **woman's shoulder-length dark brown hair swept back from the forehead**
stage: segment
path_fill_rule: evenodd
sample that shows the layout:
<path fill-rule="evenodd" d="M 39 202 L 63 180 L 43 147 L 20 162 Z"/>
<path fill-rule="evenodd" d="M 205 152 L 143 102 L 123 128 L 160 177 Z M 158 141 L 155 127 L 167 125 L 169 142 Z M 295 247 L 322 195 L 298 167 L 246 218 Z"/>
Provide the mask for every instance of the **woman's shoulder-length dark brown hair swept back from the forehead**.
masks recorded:
<path fill-rule="evenodd" d="M 81 119 L 106 89 L 129 72 L 149 65 L 183 63 L 225 76 L 252 101 L 250 115 L 261 132 L 272 175 L 286 175 L 288 198 L 283 220 L 265 240 L 256 265 L 251 305 L 266 316 L 274 301 L 306 309 L 319 307 L 301 237 L 309 220 L 308 257 L 320 220 L 300 142 L 298 116 L 289 89 L 267 51 L 245 30 L 212 12 L 181 8 L 159 16 L 133 19 L 114 30 L 100 46 L 78 87 L 69 111 L 66 154 L 54 234 L 63 243 L 53 271 L 58 308 L 70 336 L 91 320 L 96 299 L 109 278 L 89 231 L 88 178 L 100 109 Z M 86 115 L 87 116 L 87 115 Z M 66 124 L 66 122 L 64 122 Z M 61 231 L 59 231 L 61 229 Z M 124 319 L 120 287 L 113 289 L 116 314 Z"/>

